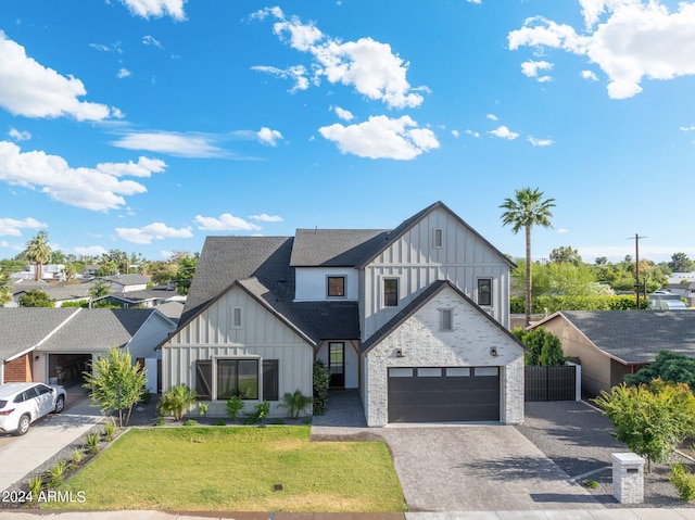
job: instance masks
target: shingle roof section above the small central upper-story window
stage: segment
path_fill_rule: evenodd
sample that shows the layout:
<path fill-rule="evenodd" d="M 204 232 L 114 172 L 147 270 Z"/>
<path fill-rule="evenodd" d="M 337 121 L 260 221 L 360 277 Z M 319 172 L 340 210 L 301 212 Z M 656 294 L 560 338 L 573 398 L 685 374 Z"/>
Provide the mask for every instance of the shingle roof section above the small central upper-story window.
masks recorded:
<path fill-rule="evenodd" d="M 298 229 L 292 267 L 354 267 L 387 243 L 382 229 Z"/>

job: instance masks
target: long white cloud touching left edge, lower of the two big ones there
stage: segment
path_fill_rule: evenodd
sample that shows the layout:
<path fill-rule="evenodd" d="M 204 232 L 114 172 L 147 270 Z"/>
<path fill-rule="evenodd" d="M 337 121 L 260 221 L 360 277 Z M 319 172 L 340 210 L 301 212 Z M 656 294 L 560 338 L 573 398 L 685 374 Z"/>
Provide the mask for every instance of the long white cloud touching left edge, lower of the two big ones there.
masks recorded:
<path fill-rule="evenodd" d="M 10 141 L 0 141 L 0 180 L 9 185 L 38 189 L 51 199 L 97 212 L 125 205 L 124 195 L 144 193 L 147 188 L 123 176 L 150 177 L 163 172 L 162 161 L 140 157 L 138 163 L 106 163 L 96 168 L 72 168 L 59 155 L 42 151 L 22 152 Z"/>

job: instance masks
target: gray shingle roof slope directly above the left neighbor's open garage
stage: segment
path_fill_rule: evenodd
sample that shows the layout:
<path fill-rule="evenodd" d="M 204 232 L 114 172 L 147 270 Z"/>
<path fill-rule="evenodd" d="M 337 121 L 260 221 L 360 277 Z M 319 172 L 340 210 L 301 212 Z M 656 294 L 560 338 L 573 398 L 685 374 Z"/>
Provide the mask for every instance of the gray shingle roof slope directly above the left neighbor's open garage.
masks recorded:
<path fill-rule="evenodd" d="M 83 308 L 39 350 L 94 352 L 124 346 L 152 313 L 153 308 Z"/>

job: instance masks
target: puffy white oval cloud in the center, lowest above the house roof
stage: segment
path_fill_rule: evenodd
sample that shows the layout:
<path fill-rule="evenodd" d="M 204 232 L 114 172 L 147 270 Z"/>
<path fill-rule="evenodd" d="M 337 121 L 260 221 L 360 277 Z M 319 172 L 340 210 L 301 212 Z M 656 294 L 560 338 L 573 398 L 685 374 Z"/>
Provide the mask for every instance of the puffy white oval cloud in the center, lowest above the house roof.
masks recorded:
<path fill-rule="evenodd" d="M 343 126 L 340 123 L 318 129 L 319 134 L 334 142 L 342 153 L 359 157 L 397 158 L 408 161 L 422 152 L 439 148 L 434 132 L 418 128 L 408 116 L 390 118 L 371 116 L 368 122 Z"/>

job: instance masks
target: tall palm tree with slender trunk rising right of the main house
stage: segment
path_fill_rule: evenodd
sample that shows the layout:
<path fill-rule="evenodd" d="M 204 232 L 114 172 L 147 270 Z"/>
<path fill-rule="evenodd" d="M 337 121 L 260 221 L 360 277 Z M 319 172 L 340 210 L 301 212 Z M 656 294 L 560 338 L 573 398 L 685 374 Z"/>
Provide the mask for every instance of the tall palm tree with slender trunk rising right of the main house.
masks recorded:
<path fill-rule="evenodd" d="M 500 205 L 505 212 L 502 214 L 502 224 L 511 226 L 516 234 L 521 228 L 526 231 L 526 325 L 531 324 L 531 228 L 543 226 L 552 228 L 549 218 L 553 216 L 552 207 L 555 207 L 555 199 L 543 200 L 543 192 L 521 188 L 516 190 L 514 199 L 505 199 Z"/>

